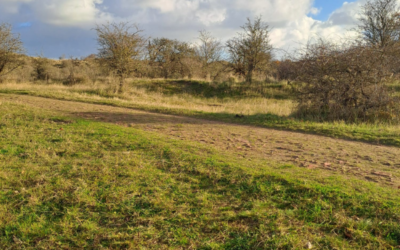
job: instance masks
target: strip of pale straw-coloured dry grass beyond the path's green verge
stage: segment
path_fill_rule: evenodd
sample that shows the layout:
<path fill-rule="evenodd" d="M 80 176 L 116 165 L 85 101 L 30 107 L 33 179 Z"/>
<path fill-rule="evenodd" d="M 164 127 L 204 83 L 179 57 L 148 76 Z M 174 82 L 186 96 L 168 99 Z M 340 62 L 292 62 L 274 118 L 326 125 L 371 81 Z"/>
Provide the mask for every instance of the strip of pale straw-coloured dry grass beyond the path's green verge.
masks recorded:
<path fill-rule="evenodd" d="M 151 81 L 149 81 L 151 82 Z M 228 114 L 275 114 L 289 116 L 294 104 L 291 100 L 267 99 L 263 97 L 248 98 L 204 98 L 195 97 L 189 93 L 166 95 L 162 89 L 148 91 L 141 85 L 129 85 L 121 95 L 113 93 L 113 86 L 96 83 L 93 85 L 82 84 L 75 86 L 64 86 L 61 84 L 32 84 L 32 83 L 5 83 L 0 85 L 0 90 L 30 90 L 54 97 L 70 96 L 74 99 L 96 100 L 104 97 L 117 99 L 123 103 L 136 104 L 139 106 L 185 109 L 202 111 L 207 113 Z"/>

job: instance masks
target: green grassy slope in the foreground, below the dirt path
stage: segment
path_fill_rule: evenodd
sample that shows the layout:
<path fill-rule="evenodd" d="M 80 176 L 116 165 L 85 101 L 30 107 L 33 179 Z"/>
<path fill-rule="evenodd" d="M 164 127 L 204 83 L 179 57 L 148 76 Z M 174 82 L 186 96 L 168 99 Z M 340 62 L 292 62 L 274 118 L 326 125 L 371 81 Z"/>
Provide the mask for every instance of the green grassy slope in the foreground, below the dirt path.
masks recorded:
<path fill-rule="evenodd" d="M 0 136 L 1 248 L 400 245 L 400 196 L 375 184 L 6 103 Z"/>

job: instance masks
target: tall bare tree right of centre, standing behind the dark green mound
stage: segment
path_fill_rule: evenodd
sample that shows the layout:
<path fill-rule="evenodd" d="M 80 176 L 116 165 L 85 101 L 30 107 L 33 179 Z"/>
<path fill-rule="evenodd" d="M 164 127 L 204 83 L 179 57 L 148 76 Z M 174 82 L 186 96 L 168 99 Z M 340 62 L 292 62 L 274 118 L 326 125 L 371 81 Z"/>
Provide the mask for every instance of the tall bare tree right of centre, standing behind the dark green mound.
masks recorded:
<path fill-rule="evenodd" d="M 241 27 L 243 32 L 229 40 L 226 47 L 230 54 L 230 65 L 233 71 L 252 82 L 253 73 L 265 72 L 271 61 L 272 46 L 269 40 L 268 24 L 257 17 L 254 22 L 247 18 Z"/>

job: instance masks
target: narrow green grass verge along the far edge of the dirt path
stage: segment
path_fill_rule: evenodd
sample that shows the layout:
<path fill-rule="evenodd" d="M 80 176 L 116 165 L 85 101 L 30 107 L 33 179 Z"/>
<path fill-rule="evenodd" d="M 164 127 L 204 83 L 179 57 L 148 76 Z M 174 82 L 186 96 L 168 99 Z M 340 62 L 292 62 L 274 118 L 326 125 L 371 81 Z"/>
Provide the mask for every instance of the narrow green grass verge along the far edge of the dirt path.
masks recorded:
<path fill-rule="evenodd" d="M 102 97 L 96 94 L 76 95 L 74 93 L 63 93 L 46 90 L 12 90 L 0 89 L 0 93 L 32 95 L 38 97 L 47 97 L 60 100 L 70 100 L 87 102 L 94 104 L 111 105 L 118 107 L 127 107 L 140 109 L 144 111 L 184 115 L 201 119 L 216 120 L 228 123 L 237 123 L 244 125 L 255 125 L 265 128 L 279 130 L 297 131 L 310 134 L 323 135 L 333 138 L 342 138 L 349 140 L 364 141 L 374 144 L 391 145 L 400 147 L 400 126 L 398 124 L 388 123 L 345 123 L 345 122 L 316 122 L 313 120 L 302 120 L 292 116 L 276 115 L 271 113 L 256 113 L 246 115 L 242 119 L 235 118 L 234 113 L 230 112 L 208 112 L 194 110 L 190 107 L 176 105 L 174 107 L 162 107 L 149 103 L 135 103 L 135 101 L 126 101 L 119 99 L 118 95 Z M 277 105 L 277 104 L 274 104 Z"/>

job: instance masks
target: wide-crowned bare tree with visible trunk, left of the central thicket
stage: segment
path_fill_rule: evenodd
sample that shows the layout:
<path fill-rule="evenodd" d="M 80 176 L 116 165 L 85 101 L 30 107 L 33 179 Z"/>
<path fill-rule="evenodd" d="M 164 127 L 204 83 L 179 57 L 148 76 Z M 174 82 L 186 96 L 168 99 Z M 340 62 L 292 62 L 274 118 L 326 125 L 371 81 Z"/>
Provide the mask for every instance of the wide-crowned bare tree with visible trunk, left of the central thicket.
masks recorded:
<path fill-rule="evenodd" d="M 119 77 L 119 92 L 123 91 L 125 78 L 137 69 L 146 39 L 142 30 L 127 22 L 97 25 L 98 58 Z"/>

